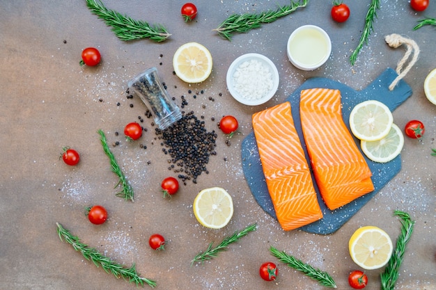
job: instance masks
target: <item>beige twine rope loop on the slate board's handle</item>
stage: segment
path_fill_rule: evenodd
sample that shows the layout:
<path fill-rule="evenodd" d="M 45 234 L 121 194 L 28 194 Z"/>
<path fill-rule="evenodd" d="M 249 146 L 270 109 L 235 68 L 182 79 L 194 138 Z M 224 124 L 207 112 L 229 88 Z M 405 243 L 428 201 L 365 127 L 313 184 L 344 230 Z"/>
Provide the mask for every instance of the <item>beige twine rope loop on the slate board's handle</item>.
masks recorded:
<path fill-rule="evenodd" d="M 398 74 L 398 76 L 389 85 L 389 90 L 394 90 L 395 86 L 398 84 L 398 81 L 403 79 L 403 77 L 407 74 L 407 72 L 409 72 L 412 69 L 416 61 L 418 61 L 419 47 L 418 45 L 416 45 L 416 42 L 414 40 L 410 38 L 404 38 L 403 36 L 396 33 L 386 35 L 384 37 L 384 40 L 386 40 L 389 47 L 392 48 L 397 48 L 400 47 L 401 45 L 406 45 L 407 47 L 406 53 L 404 54 L 403 58 L 401 58 L 401 60 L 398 62 L 396 67 L 396 73 Z M 409 59 L 410 55 L 412 55 L 412 53 L 413 56 L 409 64 L 407 65 L 407 67 L 403 67 L 407 59 Z"/>

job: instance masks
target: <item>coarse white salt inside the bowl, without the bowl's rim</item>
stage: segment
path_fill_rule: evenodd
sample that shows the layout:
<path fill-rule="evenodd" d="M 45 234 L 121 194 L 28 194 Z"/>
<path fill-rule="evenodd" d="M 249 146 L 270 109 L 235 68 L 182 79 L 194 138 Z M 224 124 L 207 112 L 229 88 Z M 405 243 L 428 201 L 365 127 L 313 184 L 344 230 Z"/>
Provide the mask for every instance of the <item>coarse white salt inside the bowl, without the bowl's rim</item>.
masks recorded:
<path fill-rule="evenodd" d="M 260 99 L 272 89 L 272 73 L 262 62 L 244 61 L 233 74 L 235 90 L 244 99 Z"/>

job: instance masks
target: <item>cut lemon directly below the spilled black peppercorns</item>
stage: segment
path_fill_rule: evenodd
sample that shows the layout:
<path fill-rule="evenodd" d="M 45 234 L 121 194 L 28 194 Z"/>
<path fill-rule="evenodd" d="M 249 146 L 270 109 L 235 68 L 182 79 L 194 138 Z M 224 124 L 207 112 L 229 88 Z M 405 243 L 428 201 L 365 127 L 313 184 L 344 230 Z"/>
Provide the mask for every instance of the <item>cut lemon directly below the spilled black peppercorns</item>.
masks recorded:
<path fill-rule="evenodd" d="M 204 227 L 221 229 L 233 216 L 232 198 L 221 187 L 203 189 L 194 200 L 194 215 Z"/>

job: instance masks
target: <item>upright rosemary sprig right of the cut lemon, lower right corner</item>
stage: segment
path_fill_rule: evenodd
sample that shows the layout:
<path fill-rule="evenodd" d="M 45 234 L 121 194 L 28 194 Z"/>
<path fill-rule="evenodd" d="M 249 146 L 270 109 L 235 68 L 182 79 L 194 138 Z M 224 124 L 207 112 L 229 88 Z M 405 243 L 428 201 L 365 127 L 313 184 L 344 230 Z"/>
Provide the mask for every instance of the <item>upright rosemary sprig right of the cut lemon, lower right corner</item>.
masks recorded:
<path fill-rule="evenodd" d="M 384 268 L 384 272 L 380 274 L 382 282 L 382 290 L 394 290 L 395 282 L 398 279 L 398 270 L 403 262 L 403 256 L 406 250 L 407 243 L 412 236 L 414 220 L 404 211 L 394 211 L 394 216 L 398 216 L 401 222 L 401 233 L 396 240 L 396 248 L 391 255 L 391 259 Z"/>

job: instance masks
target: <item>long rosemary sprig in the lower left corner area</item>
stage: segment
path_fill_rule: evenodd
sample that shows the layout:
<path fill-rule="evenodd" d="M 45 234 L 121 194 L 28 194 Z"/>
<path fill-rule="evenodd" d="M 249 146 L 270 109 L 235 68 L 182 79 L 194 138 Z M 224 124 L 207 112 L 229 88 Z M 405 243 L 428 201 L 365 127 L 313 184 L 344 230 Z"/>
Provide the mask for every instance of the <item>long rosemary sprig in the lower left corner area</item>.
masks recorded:
<path fill-rule="evenodd" d="M 72 248 L 81 252 L 81 255 L 85 257 L 88 261 L 93 261 L 95 266 L 102 266 L 103 270 L 106 273 L 112 273 L 115 277 L 123 277 L 124 280 L 138 285 L 143 285 L 144 282 L 148 284 L 150 287 L 156 287 L 156 282 L 147 278 L 140 277 L 137 273 L 137 270 L 134 264 L 130 268 L 126 268 L 123 265 L 117 264 L 115 261 L 112 261 L 109 257 L 102 255 L 95 248 L 90 248 L 88 245 L 81 243 L 80 239 L 77 236 L 73 236 L 68 229 L 65 229 L 59 223 L 56 223 L 56 230 L 59 234 L 59 239 L 61 241 L 65 241 L 72 245 Z"/>

